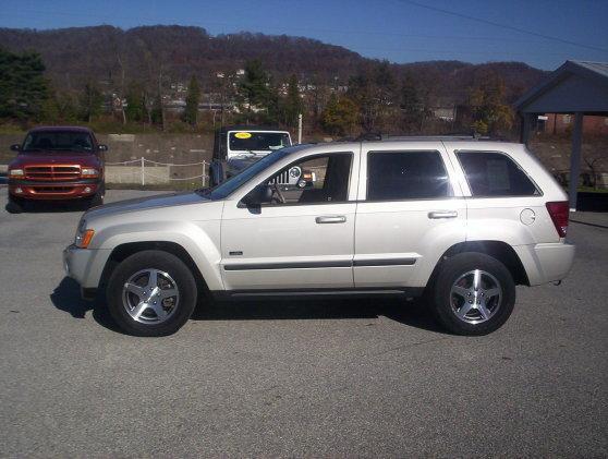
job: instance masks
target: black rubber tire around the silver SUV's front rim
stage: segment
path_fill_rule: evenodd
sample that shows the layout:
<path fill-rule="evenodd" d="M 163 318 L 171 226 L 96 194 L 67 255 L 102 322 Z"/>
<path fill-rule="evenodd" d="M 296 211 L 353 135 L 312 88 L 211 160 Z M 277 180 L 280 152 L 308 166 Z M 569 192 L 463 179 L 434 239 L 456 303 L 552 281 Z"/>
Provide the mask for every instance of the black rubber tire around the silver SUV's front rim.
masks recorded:
<path fill-rule="evenodd" d="M 179 290 L 179 301 L 165 322 L 142 323 L 133 318 L 123 303 L 123 287 L 136 273 L 158 269 L 167 273 Z M 190 268 L 175 255 L 163 251 L 137 252 L 120 263 L 108 282 L 108 309 L 118 326 L 134 336 L 167 336 L 178 331 L 190 318 L 196 306 L 196 281 Z M 156 304 L 156 303 L 155 303 Z"/>

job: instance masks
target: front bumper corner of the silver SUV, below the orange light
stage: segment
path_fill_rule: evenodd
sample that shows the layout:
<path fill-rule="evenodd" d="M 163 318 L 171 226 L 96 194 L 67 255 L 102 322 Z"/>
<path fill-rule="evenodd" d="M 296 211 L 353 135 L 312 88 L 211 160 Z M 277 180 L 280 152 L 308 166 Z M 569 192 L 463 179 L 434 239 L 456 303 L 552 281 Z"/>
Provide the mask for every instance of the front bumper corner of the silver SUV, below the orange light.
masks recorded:
<path fill-rule="evenodd" d="M 83 289 L 96 289 L 99 287 L 110 253 L 110 250 L 105 249 L 78 249 L 74 244 L 69 245 L 63 250 L 65 275 L 78 282 Z"/>

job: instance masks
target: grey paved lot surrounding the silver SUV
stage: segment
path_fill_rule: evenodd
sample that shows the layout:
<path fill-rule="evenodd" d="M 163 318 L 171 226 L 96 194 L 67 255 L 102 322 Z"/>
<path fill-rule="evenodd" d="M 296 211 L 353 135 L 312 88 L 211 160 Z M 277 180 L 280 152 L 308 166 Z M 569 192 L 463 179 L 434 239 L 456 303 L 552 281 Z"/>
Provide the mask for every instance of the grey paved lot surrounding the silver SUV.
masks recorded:
<path fill-rule="evenodd" d="M 144 192 L 110 192 L 111 200 Z M 118 333 L 63 278 L 80 212 L 3 210 L 0 456 L 606 457 L 608 217 L 491 336 L 423 304 L 247 303 Z"/>

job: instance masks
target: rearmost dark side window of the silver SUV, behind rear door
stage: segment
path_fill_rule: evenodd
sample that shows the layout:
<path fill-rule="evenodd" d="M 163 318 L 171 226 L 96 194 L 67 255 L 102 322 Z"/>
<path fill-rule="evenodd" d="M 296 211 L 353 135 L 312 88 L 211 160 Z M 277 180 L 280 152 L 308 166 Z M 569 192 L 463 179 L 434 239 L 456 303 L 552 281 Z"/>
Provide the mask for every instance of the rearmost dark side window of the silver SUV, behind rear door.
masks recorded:
<path fill-rule="evenodd" d="M 497 152 L 457 152 L 473 196 L 534 196 L 540 194 L 526 173 Z"/>

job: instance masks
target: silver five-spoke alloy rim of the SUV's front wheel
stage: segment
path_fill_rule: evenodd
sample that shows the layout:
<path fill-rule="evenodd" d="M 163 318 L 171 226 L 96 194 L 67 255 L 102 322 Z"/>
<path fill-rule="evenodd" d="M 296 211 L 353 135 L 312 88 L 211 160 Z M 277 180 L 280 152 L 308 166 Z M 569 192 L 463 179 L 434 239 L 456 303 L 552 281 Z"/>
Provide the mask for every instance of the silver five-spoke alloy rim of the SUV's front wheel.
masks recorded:
<path fill-rule="evenodd" d="M 180 290 L 173 278 L 160 269 L 142 269 L 122 288 L 126 313 L 142 324 L 160 324 L 171 317 L 180 303 Z"/>

